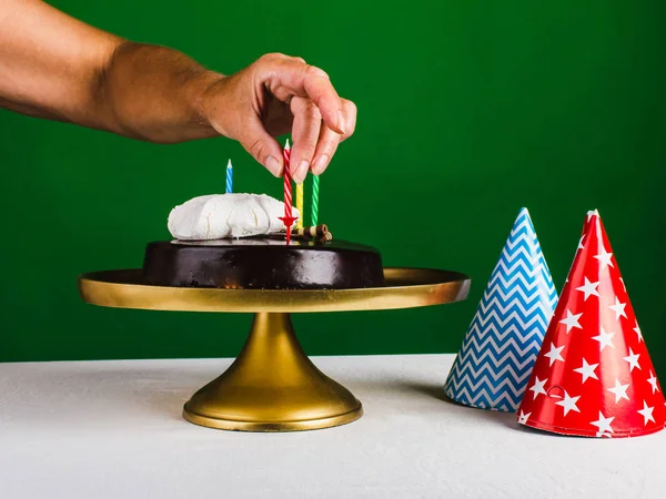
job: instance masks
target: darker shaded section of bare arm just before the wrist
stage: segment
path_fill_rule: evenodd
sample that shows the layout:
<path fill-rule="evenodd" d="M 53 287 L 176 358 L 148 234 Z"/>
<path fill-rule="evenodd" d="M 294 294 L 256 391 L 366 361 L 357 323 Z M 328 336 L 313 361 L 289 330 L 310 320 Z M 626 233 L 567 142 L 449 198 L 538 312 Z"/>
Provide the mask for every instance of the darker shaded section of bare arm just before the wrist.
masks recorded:
<path fill-rule="evenodd" d="M 175 50 L 122 42 L 101 74 L 101 128 L 161 143 L 218 135 L 199 104 L 222 78 Z"/>

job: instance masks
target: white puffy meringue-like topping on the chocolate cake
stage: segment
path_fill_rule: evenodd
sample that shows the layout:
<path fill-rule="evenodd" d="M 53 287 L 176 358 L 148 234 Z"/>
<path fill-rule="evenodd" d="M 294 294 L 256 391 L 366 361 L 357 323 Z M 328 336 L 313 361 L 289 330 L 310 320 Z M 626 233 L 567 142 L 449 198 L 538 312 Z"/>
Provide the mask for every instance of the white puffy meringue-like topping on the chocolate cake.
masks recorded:
<path fill-rule="evenodd" d="M 292 211 L 293 216 L 301 216 L 295 207 Z M 168 226 L 182 241 L 248 237 L 284 230 L 280 216 L 284 216 L 284 203 L 266 194 L 211 194 L 175 206 Z"/>

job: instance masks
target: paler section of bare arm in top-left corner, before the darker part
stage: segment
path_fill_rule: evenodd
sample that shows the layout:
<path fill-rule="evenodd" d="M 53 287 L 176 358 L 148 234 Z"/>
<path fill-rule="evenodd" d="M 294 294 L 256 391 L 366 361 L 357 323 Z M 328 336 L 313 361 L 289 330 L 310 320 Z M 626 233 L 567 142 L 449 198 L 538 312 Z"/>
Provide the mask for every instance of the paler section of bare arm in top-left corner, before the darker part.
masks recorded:
<path fill-rule="evenodd" d="M 39 0 L 0 0 L 0 106 L 98 125 L 100 69 L 119 43 Z"/>

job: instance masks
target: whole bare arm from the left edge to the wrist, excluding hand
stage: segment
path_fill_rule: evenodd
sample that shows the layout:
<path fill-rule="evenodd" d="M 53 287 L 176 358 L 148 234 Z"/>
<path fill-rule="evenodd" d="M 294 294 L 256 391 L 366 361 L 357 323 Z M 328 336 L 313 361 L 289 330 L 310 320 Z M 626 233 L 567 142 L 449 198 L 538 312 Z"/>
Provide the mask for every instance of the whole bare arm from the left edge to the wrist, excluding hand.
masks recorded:
<path fill-rule="evenodd" d="M 131 43 L 39 0 L 0 0 L 0 106 L 127 136 L 216 133 L 198 110 L 222 77 L 184 54 Z"/>

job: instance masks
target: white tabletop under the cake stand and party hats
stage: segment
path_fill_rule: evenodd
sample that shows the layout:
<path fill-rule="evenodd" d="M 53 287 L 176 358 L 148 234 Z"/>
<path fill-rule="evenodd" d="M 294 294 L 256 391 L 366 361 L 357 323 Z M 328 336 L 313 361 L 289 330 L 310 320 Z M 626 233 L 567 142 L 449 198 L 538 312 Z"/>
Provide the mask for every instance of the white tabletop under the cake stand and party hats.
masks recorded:
<path fill-rule="evenodd" d="M 362 400 L 360 420 L 292 434 L 183 420 L 230 359 L 0 364 L 0 497 L 666 497 L 666 431 L 558 437 L 444 401 L 452 355 L 314 361 Z"/>

